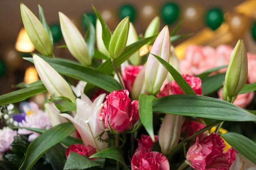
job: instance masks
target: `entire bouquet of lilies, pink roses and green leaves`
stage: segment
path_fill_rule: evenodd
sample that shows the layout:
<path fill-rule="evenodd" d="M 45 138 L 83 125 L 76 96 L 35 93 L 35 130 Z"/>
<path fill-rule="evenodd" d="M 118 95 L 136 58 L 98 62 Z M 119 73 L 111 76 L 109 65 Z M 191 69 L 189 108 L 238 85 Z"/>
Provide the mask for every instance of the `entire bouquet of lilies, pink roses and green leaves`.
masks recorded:
<path fill-rule="evenodd" d="M 191 46 L 179 62 L 171 45 L 184 37 L 176 35 L 179 26 L 159 32 L 156 17 L 139 40 L 129 17 L 112 34 L 93 9 L 96 29 L 84 15 L 85 38 L 59 12 L 62 47 L 76 62 L 53 54 L 41 6 L 38 20 L 20 4 L 27 34 L 41 53 L 24 59 L 41 80 L 0 96 L 0 117 L 8 125 L 0 132 L 1 169 L 256 169 L 256 143 L 222 128 L 256 122 L 255 111 L 244 109 L 253 99 L 256 73 L 248 73 L 243 40 L 222 52 Z M 140 56 L 140 48 L 150 46 Z M 31 102 L 17 111 L 12 104 L 47 91 L 44 110 Z"/>

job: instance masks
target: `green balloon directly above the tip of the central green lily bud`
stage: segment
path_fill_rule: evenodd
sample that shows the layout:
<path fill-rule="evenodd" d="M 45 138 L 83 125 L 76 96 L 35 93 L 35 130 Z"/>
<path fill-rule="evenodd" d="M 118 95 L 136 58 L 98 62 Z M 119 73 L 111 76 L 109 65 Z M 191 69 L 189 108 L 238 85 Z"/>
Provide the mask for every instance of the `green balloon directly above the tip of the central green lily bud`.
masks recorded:
<path fill-rule="evenodd" d="M 119 17 L 120 17 L 121 20 L 124 19 L 127 16 L 130 17 L 130 22 L 134 22 L 135 17 L 136 17 L 136 10 L 131 5 L 123 5 L 119 9 Z"/>

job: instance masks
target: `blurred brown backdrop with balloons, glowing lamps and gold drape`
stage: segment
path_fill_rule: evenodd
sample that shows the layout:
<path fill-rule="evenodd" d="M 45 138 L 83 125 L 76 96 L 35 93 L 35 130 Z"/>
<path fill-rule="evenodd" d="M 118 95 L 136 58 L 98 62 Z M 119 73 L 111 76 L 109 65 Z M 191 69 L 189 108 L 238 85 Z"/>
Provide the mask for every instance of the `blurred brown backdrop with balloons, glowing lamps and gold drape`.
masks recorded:
<path fill-rule="evenodd" d="M 99 10 L 111 30 L 122 18 L 130 16 L 141 36 L 157 15 L 161 18 L 161 27 L 169 25 L 170 30 L 183 20 L 177 34 L 193 35 L 174 43 L 179 58 L 184 57 L 184 51 L 190 44 L 234 46 L 239 38 L 245 40 L 248 51 L 256 53 L 256 0 L 0 0 L 0 95 L 17 90 L 13 85 L 19 82 L 28 84 L 38 80 L 32 63 L 22 59 L 36 51 L 23 28 L 20 3 L 24 3 L 37 17 L 38 4 L 42 6 L 52 30 L 57 57 L 73 59 L 66 48 L 56 48 L 65 44 L 58 11 L 72 19 L 85 34 L 83 14 L 86 13 L 96 23 L 91 4 Z M 40 105 L 44 96 L 38 95 L 31 100 Z"/>

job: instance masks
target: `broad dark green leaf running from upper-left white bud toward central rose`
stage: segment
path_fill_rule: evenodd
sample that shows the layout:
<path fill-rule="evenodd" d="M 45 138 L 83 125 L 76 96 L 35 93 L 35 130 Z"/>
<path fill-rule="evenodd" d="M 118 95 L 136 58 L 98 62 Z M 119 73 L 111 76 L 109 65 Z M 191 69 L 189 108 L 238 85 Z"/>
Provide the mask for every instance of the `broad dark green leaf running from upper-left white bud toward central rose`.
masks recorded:
<path fill-rule="evenodd" d="M 40 57 L 60 74 L 96 85 L 97 87 L 108 92 L 121 89 L 120 84 L 116 81 L 116 79 L 110 75 L 97 71 L 96 69 L 84 67 L 67 59 L 49 59 L 42 55 L 40 55 Z"/>

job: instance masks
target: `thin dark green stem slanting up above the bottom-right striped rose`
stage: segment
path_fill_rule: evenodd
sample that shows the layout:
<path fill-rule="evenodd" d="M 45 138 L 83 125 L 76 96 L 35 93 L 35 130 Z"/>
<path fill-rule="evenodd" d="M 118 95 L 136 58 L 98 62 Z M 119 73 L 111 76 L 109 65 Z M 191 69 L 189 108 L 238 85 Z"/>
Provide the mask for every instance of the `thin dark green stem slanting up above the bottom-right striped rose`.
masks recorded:
<path fill-rule="evenodd" d="M 174 155 L 180 148 L 183 147 L 183 145 L 187 142 L 189 142 L 190 140 L 194 139 L 196 136 L 200 135 L 201 133 L 204 133 L 205 131 L 211 129 L 212 127 L 220 124 L 222 121 L 217 120 L 215 122 L 212 122 L 210 125 L 207 125 L 206 127 L 204 127 L 203 129 L 201 129 L 200 131 L 198 131 L 197 133 L 193 134 L 192 136 L 189 136 L 187 139 L 183 140 L 182 142 L 180 142 L 179 144 L 177 144 L 175 147 L 172 148 L 171 150 L 171 154 L 168 156 L 168 159 L 170 157 L 172 157 L 172 155 Z"/>

